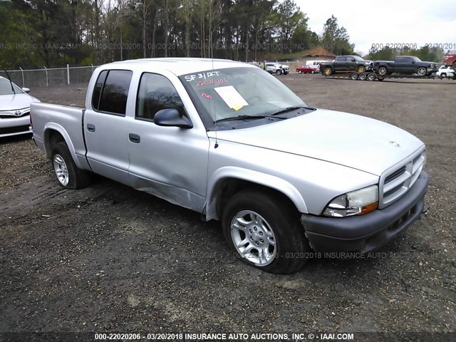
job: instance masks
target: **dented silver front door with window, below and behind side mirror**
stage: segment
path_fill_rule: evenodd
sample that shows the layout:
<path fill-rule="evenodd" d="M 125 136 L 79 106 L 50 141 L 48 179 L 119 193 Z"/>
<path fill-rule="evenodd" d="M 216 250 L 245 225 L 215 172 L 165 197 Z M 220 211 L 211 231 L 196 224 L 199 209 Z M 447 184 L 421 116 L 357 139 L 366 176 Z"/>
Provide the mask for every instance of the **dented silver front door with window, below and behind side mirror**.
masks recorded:
<path fill-rule="evenodd" d="M 135 116 L 130 121 L 130 180 L 135 189 L 202 212 L 209 139 L 196 128 L 156 125 L 155 114 L 169 108 L 187 115 L 179 93 L 168 78 L 142 73 Z"/>

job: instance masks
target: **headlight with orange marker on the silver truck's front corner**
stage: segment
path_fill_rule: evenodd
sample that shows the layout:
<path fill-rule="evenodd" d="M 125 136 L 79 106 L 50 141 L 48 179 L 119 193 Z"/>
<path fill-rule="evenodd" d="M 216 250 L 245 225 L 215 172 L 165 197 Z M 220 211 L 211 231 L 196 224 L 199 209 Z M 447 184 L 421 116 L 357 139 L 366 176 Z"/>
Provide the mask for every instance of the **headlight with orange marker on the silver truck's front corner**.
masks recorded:
<path fill-rule="evenodd" d="M 347 217 L 371 212 L 378 207 L 378 186 L 371 185 L 363 189 L 347 192 L 333 198 L 326 205 L 323 215 L 331 217 Z"/>

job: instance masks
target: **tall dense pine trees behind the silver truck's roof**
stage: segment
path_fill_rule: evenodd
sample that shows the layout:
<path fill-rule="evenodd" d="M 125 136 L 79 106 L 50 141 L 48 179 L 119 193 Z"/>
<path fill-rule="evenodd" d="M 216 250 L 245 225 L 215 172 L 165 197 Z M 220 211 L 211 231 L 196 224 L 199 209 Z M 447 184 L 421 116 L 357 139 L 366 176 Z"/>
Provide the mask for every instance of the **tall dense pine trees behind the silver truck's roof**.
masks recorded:
<path fill-rule="evenodd" d="M 2 68 L 188 56 L 259 61 L 323 46 L 353 53 L 334 16 L 319 36 L 293 0 L 0 1 Z"/>

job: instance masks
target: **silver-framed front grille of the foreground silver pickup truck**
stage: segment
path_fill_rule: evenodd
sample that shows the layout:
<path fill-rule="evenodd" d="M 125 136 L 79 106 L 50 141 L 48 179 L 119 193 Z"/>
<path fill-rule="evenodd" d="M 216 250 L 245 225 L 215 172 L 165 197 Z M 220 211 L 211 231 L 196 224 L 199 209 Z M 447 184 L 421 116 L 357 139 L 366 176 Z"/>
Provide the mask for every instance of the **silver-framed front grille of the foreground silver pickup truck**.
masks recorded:
<path fill-rule="evenodd" d="M 379 208 L 388 207 L 403 197 L 415 184 L 426 160 L 426 151 L 420 150 L 403 160 L 380 177 Z"/>

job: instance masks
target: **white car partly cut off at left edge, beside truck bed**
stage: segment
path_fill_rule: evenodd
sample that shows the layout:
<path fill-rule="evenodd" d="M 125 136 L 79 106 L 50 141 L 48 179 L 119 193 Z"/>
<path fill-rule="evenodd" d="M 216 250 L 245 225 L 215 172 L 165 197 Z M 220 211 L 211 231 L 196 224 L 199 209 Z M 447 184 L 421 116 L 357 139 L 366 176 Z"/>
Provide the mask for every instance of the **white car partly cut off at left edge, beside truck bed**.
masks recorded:
<path fill-rule="evenodd" d="M 0 138 L 31 133 L 30 104 L 40 100 L 29 91 L 0 76 Z"/>

